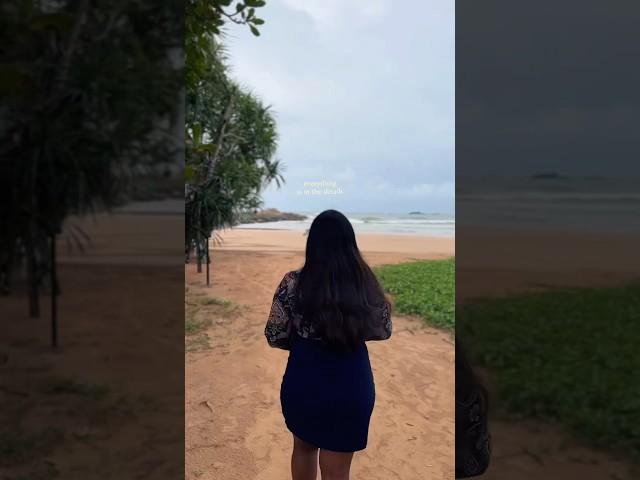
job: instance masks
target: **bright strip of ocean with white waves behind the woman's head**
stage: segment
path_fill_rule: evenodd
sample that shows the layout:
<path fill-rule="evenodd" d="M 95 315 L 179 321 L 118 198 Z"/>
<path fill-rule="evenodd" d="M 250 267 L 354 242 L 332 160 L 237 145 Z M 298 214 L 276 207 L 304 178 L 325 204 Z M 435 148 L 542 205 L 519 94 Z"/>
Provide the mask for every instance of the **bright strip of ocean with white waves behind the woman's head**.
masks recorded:
<path fill-rule="evenodd" d="M 293 212 L 306 215 L 305 220 L 279 222 L 245 223 L 239 229 L 269 229 L 305 231 L 320 212 Z M 441 213 L 362 213 L 343 212 L 356 233 L 381 233 L 396 235 L 429 235 L 455 237 L 455 217 Z"/>

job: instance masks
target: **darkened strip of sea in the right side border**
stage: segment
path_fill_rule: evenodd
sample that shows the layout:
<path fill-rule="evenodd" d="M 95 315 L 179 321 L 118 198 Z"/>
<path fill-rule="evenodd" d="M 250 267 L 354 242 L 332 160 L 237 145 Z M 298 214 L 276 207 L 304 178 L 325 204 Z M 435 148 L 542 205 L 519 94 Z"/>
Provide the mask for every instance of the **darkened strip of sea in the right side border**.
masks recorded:
<path fill-rule="evenodd" d="M 640 179 L 467 178 L 456 212 L 465 227 L 640 232 Z"/>

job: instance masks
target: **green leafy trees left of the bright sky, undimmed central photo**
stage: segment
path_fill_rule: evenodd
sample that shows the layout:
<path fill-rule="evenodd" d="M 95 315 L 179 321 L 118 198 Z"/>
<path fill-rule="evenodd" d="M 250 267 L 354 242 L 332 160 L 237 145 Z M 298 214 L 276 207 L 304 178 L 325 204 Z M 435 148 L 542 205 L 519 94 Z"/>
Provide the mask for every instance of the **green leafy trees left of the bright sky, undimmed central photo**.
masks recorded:
<path fill-rule="evenodd" d="M 185 250 L 195 248 L 199 266 L 208 261 L 212 232 L 236 224 L 242 211 L 259 208 L 262 190 L 284 181 L 275 158 L 275 117 L 231 79 L 221 39 L 226 23 L 247 25 L 259 35 L 264 21 L 256 8 L 264 5 L 259 0 L 187 3 Z"/>

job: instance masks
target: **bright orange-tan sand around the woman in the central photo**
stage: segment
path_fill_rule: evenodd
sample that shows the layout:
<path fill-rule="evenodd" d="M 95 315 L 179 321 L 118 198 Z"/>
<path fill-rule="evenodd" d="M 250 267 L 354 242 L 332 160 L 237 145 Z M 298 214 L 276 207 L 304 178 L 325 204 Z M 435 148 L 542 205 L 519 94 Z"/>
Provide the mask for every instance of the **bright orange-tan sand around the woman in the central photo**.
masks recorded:
<path fill-rule="evenodd" d="M 263 336 L 275 287 L 301 266 L 302 232 L 230 230 L 212 251 L 212 285 L 186 267 L 187 301 L 219 298 L 205 315 L 208 347 L 186 357 L 186 478 L 288 478 L 291 434 L 279 404 L 287 353 Z M 454 255 L 453 238 L 359 235 L 372 265 Z M 187 339 L 187 341 L 189 341 Z M 394 335 L 370 342 L 376 407 L 369 446 L 354 480 L 451 479 L 454 461 L 454 348 L 448 334 L 394 316 Z"/>

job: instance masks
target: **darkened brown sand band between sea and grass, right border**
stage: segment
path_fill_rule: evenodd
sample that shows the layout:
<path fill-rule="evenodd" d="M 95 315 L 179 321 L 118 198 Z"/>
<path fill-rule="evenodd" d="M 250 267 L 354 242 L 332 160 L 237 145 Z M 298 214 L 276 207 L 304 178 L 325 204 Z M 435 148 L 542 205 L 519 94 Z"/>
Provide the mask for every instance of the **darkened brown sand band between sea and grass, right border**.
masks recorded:
<path fill-rule="evenodd" d="M 562 287 L 619 286 L 640 275 L 638 244 L 636 233 L 466 228 L 457 239 L 457 302 Z"/>

